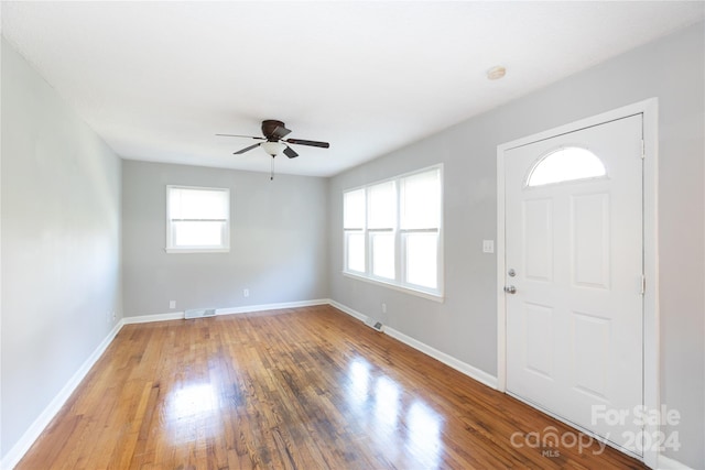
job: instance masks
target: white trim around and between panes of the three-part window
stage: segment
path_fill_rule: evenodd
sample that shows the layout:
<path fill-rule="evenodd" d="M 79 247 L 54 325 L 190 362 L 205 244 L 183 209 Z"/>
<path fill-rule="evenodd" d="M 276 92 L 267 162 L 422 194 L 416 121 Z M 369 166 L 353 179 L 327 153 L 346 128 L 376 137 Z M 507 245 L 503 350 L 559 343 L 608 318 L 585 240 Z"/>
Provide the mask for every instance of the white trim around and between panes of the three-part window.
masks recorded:
<path fill-rule="evenodd" d="M 405 283 L 402 281 L 403 278 L 403 274 L 404 274 L 404 270 L 405 266 L 404 264 L 404 260 L 403 260 L 403 250 L 402 250 L 402 243 L 403 243 L 403 233 L 413 233 L 413 232 L 420 232 L 420 231 L 426 231 L 427 229 L 400 229 L 399 227 L 397 227 L 399 225 L 399 210 L 400 210 L 400 201 L 399 201 L 399 190 L 400 190 L 400 185 L 397 184 L 397 223 L 395 227 L 393 228 L 392 232 L 394 233 L 394 239 L 395 239 L 395 243 L 394 243 L 394 262 L 395 262 L 395 274 L 397 274 L 397 280 L 388 280 L 386 277 L 380 277 L 380 276 L 376 276 L 371 273 L 372 266 L 371 266 L 371 251 L 370 251 L 370 234 L 375 233 L 375 232 L 380 232 L 383 230 L 378 230 L 378 229 L 368 229 L 367 226 L 364 227 L 362 229 L 349 229 L 346 230 L 345 227 L 343 227 L 343 275 L 346 277 L 350 277 L 354 280 L 358 280 L 358 281 L 364 281 L 370 284 L 376 284 L 376 285 L 380 285 L 383 287 L 389 287 L 392 288 L 394 291 L 400 291 L 400 292 L 404 292 L 408 294 L 412 294 L 412 295 L 416 295 L 419 297 L 423 297 L 423 298 L 427 298 L 431 300 L 435 300 L 435 302 L 440 302 L 443 303 L 445 300 L 445 280 L 444 280 L 444 220 L 443 220 L 443 212 L 444 212 L 444 174 L 443 174 L 443 164 L 437 164 L 437 165 L 432 165 L 432 166 L 427 166 L 421 170 L 415 170 L 413 172 L 408 172 L 408 173 L 403 173 L 397 176 L 393 176 L 391 178 L 386 178 L 386 179 L 380 179 L 380 181 L 376 181 L 376 182 L 371 182 L 361 186 L 356 186 L 356 187 L 350 187 L 350 188 L 346 188 L 341 192 L 341 203 L 345 199 L 345 194 L 349 193 L 349 192 L 354 192 L 354 190 L 358 190 L 358 189 L 367 189 L 371 186 L 378 185 L 378 184 L 382 184 L 382 183 L 387 183 L 387 182 L 397 182 L 399 183 L 399 181 L 409 177 L 409 176 L 413 176 L 413 175 L 417 175 L 421 173 L 425 173 L 425 172 L 430 172 L 432 170 L 438 170 L 440 174 L 441 174 L 441 210 L 438 214 L 438 253 L 437 253 L 437 285 L 438 288 L 436 289 L 432 289 L 432 288 L 427 288 L 424 286 L 417 286 L 411 283 Z M 365 200 L 365 204 L 367 205 L 367 197 Z M 345 207 L 344 207 L 345 210 Z M 367 221 L 366 221 L 367 225 Z M 358 231 L 365 234 L 365 253 L 366 253 L 366 259 L 365 259 L 365 269 L 366 272 L 359 272 L 359 271 L 352 271 L 352 270 L 348 270 L 347 269 L 347 233 L 348 232 L 352 232 L 352 231 Z"/>

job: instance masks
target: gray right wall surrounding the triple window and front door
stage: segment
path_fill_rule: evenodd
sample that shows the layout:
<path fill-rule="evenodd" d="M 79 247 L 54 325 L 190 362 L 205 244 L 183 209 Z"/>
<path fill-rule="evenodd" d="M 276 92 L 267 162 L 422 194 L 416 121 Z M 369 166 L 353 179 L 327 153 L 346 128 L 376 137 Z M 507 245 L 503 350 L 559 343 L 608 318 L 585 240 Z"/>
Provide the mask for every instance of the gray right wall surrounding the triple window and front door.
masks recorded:
<path fill-rule="evenodd" d="M 705 468 L 704 37 L 699 23 L 332 178 L 330 297 L 496 374 L 496 258 L 481 241 L 497 238 L 497 145 L 658 97 L 661 393 L 682 415 L 666 455 Z M 440 162 L 446 302 L 343 276 L 341 190 Z"/>

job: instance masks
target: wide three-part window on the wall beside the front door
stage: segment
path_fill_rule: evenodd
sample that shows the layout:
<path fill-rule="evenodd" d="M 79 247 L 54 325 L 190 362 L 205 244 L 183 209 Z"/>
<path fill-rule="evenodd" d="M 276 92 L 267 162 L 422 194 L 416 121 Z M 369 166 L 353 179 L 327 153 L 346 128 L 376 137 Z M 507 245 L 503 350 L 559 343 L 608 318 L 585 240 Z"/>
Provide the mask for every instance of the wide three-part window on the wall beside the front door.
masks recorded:
<path fill-rule="evenodd" d="M 441 297 L 442 168 L 343 194 L 344 272 Z"/>

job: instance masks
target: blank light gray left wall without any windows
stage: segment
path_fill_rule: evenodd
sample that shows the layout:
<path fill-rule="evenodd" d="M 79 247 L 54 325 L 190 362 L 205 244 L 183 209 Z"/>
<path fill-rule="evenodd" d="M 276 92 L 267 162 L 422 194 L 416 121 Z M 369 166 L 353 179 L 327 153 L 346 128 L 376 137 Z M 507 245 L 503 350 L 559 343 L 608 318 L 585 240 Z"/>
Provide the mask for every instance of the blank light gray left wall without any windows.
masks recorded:
<path fill-rule="evenodd" d="M 4 456 L 120 319 L 120 160 L 2 40 Z"/>

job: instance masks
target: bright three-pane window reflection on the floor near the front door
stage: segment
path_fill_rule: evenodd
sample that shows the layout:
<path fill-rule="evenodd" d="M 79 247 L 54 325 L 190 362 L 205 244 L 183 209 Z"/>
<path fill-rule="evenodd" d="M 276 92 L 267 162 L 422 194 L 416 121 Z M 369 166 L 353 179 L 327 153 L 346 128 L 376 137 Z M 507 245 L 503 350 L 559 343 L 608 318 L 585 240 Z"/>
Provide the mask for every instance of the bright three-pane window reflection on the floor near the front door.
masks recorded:
<path fill-rule="evenodd" d="M 438 413 L 362 358 L 350 362 L 348 381 L 348 405 L 371 442 L 403 468 L 438 468 L 443 430 Z"/>

